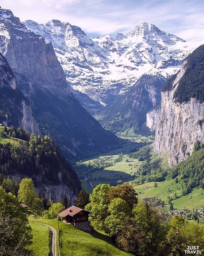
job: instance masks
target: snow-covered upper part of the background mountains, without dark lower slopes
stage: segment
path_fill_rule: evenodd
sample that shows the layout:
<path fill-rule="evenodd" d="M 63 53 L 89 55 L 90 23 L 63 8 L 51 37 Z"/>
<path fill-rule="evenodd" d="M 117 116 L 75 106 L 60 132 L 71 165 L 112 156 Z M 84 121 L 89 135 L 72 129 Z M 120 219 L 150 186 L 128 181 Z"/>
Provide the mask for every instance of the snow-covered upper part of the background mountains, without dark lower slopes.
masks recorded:
<path fill-rule="evenodd" d="M 24 24 L 52 42 L 71 91 L 92 111 L 130 90 L 150 70 L 164 78 L 176 73 L 184 58 L 201 44 L 187 43 L 149 23 L 139 24 L 126 35 L 97 38 L 59 20 L 45 25 L 27 20 Z"/>

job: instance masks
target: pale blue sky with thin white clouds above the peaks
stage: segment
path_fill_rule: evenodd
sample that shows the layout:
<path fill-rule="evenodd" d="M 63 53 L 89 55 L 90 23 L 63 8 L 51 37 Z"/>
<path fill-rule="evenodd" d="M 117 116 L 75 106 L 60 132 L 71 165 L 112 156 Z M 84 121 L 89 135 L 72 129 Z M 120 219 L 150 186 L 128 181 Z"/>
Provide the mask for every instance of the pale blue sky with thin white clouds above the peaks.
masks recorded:
<path fill-rule="evenodd" d="M 186 41 L 204 40 L 204 0 L 1 0 L 21 21 L 79 26 L 89 37 L 127 33 L 142 22 Z"/>

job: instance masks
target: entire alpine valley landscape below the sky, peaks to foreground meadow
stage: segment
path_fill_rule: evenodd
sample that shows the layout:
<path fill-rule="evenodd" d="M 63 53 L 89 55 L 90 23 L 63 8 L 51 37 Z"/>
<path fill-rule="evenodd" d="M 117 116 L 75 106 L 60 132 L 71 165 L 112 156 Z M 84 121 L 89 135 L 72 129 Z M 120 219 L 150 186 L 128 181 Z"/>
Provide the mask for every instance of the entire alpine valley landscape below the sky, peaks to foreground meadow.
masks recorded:
<path fill-rule="evenodd" d="M 204 41 L 0 7 L 0 256 L 201 254 L 203 195 Z"/>

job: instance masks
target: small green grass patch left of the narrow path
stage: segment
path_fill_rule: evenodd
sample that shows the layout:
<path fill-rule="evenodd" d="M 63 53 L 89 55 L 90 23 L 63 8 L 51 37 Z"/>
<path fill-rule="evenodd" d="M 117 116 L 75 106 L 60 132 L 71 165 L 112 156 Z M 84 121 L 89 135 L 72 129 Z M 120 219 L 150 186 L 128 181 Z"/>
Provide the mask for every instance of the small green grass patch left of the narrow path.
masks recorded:
<path fill-rule="evenodd" d="M 32 228 L 33 244 L 29 246 L 34 256 L 48 256 L 48 227 L 42 226 L 35 222 L 30 222 Z"/>

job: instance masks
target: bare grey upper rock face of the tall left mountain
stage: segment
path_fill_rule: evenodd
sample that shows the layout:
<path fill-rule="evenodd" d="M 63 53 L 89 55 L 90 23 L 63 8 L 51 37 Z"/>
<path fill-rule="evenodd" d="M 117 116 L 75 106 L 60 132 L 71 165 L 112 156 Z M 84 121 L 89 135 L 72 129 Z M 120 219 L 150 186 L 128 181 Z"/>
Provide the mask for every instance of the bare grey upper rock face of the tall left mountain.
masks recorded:
<path fill-rule="evenodd" d="M 70 93 L 51 43 L 46 44 L 43 36 L 27 30 L 10 10 L 0 9 L 0 29 L 0 52 L 26 93 L 37 87 L 61 96 Z"/>

